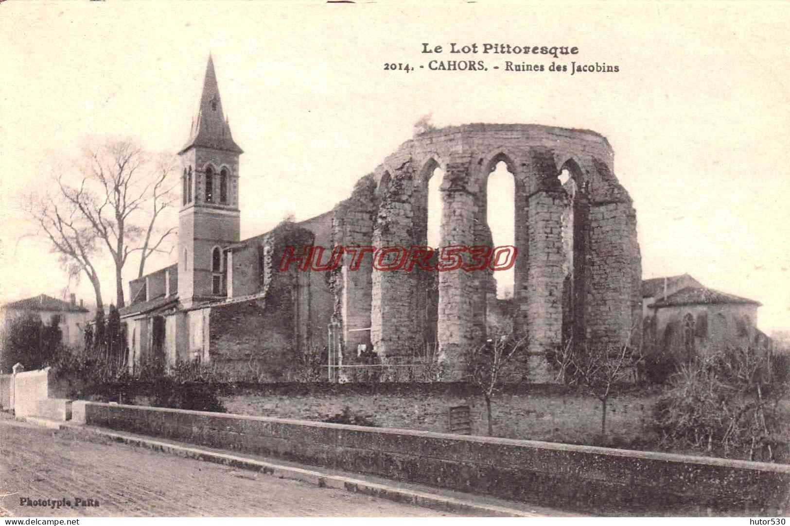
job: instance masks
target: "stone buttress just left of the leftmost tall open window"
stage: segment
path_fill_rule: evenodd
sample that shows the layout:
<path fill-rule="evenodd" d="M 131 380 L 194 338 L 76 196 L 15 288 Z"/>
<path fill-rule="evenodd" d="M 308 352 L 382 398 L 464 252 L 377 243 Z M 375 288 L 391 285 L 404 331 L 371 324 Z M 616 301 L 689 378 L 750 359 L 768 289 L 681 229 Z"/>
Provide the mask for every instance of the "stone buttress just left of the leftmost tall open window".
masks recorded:
<path fill-rule="evenodd" d="M 412 190 L 413 174 L 410 163 L 405 163 L 391 174 L 389 184 L 383 189 L 382 204 L 373 231 L 373 245 L 403 247 L 406 254 L 390 252 L 378 260 L 378 266 L 391 264 L 397 257 L 408 256 L 412 246 Z M 422 345 L 422 332 L 416 325 L 414 295 L 416 272 L 404 269 L 376 269 L 372 274 L 371 341 L 373 349 L 382 360 L 393 361 L 399 355 L 411 356 Z"/>

